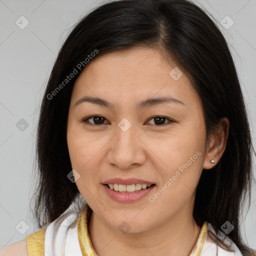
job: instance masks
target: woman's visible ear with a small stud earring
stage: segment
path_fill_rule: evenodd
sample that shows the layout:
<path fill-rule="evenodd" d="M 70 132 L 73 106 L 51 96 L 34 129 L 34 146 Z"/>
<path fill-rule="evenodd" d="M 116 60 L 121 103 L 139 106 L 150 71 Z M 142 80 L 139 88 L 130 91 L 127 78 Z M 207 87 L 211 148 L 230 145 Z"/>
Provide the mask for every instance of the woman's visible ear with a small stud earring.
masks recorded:
<path fill-rule="evenodd" d="M 229 131 L 229 120 L 222 117 L 216 125 L 214 132 L 207 141 L 207 152 L 205 154 L 203 168 L 210 169 L 217 164 L 225 148 Z M 214 159 L 212 166 L 210 160 Z"/>

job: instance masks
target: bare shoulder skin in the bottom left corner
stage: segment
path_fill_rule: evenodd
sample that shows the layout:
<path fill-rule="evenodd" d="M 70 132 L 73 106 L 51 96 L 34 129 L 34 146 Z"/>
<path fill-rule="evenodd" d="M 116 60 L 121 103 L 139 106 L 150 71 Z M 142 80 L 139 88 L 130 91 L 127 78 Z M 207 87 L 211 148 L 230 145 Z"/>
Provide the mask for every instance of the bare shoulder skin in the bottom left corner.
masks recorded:
<path fill-rule="evenodd" d="M 28 256 L 26 239 L 11 243 L 0 250 L 0 256 Z"/>

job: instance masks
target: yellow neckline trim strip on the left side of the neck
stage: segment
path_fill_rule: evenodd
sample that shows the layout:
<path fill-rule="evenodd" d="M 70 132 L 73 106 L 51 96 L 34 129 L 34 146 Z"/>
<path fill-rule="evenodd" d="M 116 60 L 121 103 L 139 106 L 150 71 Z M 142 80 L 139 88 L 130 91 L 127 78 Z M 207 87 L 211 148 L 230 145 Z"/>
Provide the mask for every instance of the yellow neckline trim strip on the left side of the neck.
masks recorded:
<path fill-rule="evenodd" d="M 89 232 L 88 232 L 88 219 L 90 217 L 92 210 L 89 205 L 86 203 L 81 214 L 78 218 L 77 223 L 77 232 L 78 232 L 78 240 L 81 247 L 81 252 L 83 256 L 96 256 L 96 252 L 92 247 L 92 243 L 90 240 Z"/>

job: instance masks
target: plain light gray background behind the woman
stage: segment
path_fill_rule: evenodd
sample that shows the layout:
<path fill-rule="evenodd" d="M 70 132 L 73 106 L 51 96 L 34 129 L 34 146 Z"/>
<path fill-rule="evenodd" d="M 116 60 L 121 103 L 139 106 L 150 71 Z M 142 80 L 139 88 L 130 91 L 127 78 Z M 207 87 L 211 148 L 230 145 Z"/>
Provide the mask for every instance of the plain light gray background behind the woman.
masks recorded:
<path fill-rule="evenodd" d="M 36 170 L 33 163 L 38 107 L 56 54 L 70 31 L 68 28 L 101 2 L 0 0 L 0 248 L 37 230 L 29 200 L 33 194 Z M 217 20 L 229 42 L 255 145 L 256 0 L 194 2 Z M 29 21 L 24 29 L 15 23 L 22 15 Z M 234 21 L 228 29 L 221 25 L 221 20 L 227 15 Z M 228 19 L 223 22 L 231 24 Z M 21 118 L 27 122 L 27 127 L 16 126 L 18 122 L 24 123 L 24 120 L 20 121 Z M 255 177 L 255 163 L 253 166 Z M 249 210 L 244 209 L 242 234 L 249 246 L 256 248 L 254 182 L 251 202 Z M 18 230 L 24 231 L 26 225 L 20 221 L 28 225 L 28 230 L 23 234 Z"/>

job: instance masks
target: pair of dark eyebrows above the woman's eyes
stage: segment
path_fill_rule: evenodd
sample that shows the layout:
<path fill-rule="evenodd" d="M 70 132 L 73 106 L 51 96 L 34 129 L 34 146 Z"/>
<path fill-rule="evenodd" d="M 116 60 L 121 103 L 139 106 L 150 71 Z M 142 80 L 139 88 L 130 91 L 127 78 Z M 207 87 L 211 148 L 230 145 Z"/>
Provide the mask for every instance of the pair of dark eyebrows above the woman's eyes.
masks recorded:
<path fill-rule="evenodd" d="M 90 97 L 90 96 L 84 96 L 82 98 L 80 98 L 73 107 L 75 107 L 76 105 L 82 103 L 82 102 L 90 102 L 93 104 L 97 104 L 100 106 L 105 106 L 108 108 L 114 108 L 114 104 L 102 99 L 102 98 L 98 98 L 98 97 Z M 137 109 L 142 109 L 145 107 L 150 107 L 156 104 L 161 104 L 161 103 L 178 103 L 178 104 L 182 104 L 184 105 L 184 103 L 172 96 L 163 96 L 163 97 L 157 97 L 157 98 L 148 98 L 145 99 L 139 103 L 136 104 L 136 108 Z"/>

